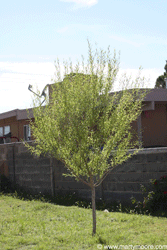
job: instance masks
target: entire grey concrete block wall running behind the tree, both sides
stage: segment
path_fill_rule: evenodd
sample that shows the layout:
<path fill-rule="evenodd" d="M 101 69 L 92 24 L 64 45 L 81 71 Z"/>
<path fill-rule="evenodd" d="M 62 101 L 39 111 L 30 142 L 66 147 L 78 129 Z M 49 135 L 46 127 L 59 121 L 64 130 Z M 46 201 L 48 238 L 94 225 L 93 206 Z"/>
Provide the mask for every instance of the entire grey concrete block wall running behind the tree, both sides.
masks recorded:
<path fill-rule="evenodd" d="M 32 193 L 54 195 L 59 190 L 77 191 L 84 198 L 91 197 L 89 187 L 62 175 L 67 170 L 60 161 L 34 157 L 20 142 L 0 145 L 0 171 L 8 172 L 13 183 Z M 167 175 L 167 148 L 143 149 L 108 174 L 96 190 L 97 199 L 122 203 L 130 203 L 132 195 L 142 199 L 140 184 L 148 185 L 150 179 L 162 175 Z"/>

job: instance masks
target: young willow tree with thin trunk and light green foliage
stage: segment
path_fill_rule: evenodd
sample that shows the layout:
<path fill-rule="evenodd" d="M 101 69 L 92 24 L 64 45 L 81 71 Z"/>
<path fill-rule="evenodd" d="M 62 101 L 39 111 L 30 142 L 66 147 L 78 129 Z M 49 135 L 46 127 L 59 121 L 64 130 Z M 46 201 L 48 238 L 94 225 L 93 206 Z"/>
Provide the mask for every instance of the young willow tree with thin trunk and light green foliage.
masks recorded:
<path fill-rule="evenodd" d="M 57 60 L 56 80 L 45 107 L 34 102 L 35 121 L 30 123 L 35 139 L 27 147 L 36 155 L 46 154 L 62 161 L 69 175 L 89 186 L 92 193 L 93 235 L 96 233 L 95 188 L 109 171 L 139 148 L 131 124 L 141 113 L 145 91 L 135 88 L 111 92 L 119 68 L 116 54 L 96 49 L 88 42 L 88 61 L 73 67 Z M 124 86 L 128 83 L 123 78 Z M 137 151 L 135 151 L 136 153 Z M 69 176 L 68 175 L 68 176 Z"/>

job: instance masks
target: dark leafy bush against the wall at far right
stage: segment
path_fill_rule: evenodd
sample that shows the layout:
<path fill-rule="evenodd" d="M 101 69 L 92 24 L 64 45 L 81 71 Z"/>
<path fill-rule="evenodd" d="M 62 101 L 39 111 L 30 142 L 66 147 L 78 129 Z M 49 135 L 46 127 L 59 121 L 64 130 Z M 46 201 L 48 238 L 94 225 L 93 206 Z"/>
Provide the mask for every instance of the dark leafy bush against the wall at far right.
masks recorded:
<path fill-rule="evenodd" d="M 167 176 L 161 176 L 159 180 L 151 179 L 148 188 L 141 185 L 144 195 L 143 202 L 137 201 L 132 197 L 132 204 L 135 204 L 135 211 L 146 214 L 165 214 L 167 213 Z"/>

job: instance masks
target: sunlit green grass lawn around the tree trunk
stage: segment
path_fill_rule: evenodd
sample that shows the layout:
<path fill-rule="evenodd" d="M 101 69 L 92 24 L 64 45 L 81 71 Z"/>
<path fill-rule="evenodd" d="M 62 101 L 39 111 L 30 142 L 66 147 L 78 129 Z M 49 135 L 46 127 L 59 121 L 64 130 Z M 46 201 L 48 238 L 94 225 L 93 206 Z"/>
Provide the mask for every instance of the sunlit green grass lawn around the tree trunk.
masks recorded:
<path fill-rule="evenodd" d="M 167 218 L 97 211 L 97 234 L 92 237 L 91 209 L 0 195 L 0 250 L 162 246 L 166 236 Z"/>

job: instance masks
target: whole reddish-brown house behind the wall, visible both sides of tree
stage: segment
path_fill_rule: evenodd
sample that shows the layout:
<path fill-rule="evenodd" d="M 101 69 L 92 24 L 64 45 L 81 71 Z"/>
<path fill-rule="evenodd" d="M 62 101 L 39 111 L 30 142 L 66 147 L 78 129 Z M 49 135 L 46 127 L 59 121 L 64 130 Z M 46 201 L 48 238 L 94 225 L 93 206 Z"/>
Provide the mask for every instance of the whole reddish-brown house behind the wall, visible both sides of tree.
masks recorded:
<path fill-rule="evenodd" d="M 49 94 L 52 86 L 53 84 L 49 85 Z M 132 127 L 142 141 L 143 147 L 167 147 L 167 89 L 148 90 L 143 102 L 142 114 L 137 121 L 133 122 Z M 33 120 L 32 109 L 28 111 Z M 0 114 L 0 136 L 11 132 L 11 136 L 17 137 L 19 141 L 32 139 L 28 118 L 26 109 L 15 109 Z M 14 142 L 17 139 L 8 139 L 5 142 L 10 141 Z"/>

